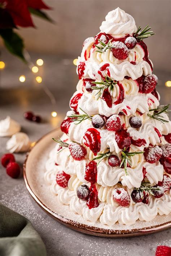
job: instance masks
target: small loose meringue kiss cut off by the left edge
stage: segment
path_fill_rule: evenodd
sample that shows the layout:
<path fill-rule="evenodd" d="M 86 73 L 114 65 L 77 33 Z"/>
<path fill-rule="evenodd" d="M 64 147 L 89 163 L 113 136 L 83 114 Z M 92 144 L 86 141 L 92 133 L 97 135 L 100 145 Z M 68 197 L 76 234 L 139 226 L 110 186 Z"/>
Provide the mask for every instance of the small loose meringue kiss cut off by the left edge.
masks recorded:
<path fill-rule="evenodd" d="M 21 130 L 21 125 L 7 116 L 0 121 L 0 137 L 12 136 Z"/>

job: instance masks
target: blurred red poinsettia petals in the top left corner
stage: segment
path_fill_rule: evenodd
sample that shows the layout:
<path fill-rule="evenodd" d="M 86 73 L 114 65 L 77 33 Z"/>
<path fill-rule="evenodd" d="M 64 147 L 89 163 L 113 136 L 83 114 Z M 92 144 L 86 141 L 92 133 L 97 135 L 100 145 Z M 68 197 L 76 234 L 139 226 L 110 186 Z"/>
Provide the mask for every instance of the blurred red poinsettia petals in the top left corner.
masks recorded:
<path fill-rule="evenodd" d="M 29 12 L 33 9 L 50 9 L 42 0 L 0 0 L 0 7 L 6 10 L 16 26 L 34 27 Z"/>

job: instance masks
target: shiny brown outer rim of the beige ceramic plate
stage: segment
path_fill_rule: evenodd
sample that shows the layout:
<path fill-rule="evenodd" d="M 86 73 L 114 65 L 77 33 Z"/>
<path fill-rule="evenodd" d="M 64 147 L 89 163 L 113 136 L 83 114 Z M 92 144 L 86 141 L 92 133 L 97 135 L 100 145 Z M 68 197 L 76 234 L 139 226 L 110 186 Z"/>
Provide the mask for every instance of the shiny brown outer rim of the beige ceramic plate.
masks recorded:
<path fill-rule="evenodd" d="M 136 229 L 132 229 L 131 231 L 130 231 L 130 229 L 125 229 L 125 230 L 123 230 L 123 229 L 122 230 L 103 229 L 103 228 L 93 227 L 91 225 L 82 224 L 80 222 L 70 220 L 69 218 L 62 216 L 61 214 L 56 213 L 56 212 L 52 211 L 49 207 L 47 207 L 40 200 L 40 198 L 37 195 L 35 195 L 35 193 L 33 192 L 32 188 L 29 184 L 29 181 L 27 179 L 26 165 L 27 165 L 27 160 L 29 158 L 29 155 L 30 155 L 30 152 L 32 151 L 32 149 L 34 149 L 38 145 L 38 143 L 41 140 L 43 140 L 46 136 L 48 136 L 51 133 L 54 133 L 55 131 L 59 131 L 59 130 L 60 130 L 60 127 L 57 127 L 56 129 L 46 133 L 39 140 L 37 140 L 36 143 L 34 144 L 34 146 L 30 148 L 29 152 L 26 153 L 25 162 L 23 164 L 23 178 L 25 181 L 26 188 L 29 191 L 32 198 L 36 201 L 36 203 L 45 212 L 47 212 L 51 217 L 56 219 L 61 224 L 69 227 L 70 229 L 73 229 L 75 231 L 78 231 L 78 232 L 81 232 L 84 234 L 88 234 L 88 235 L 95 235 L 98 237 L 108 237 L 108 238 L 134 237 L 134 236 L 140 236 L 140 235 L 154 234 L 154 233 L 169 229 L 171 227 L 171 221 L 167 221 L 167 222 L 164 222 L 163 224 L 157 224 L 157 225 L 144 227 L 144 228 L 140 228 L 140 229 L 136 228 Z"/>

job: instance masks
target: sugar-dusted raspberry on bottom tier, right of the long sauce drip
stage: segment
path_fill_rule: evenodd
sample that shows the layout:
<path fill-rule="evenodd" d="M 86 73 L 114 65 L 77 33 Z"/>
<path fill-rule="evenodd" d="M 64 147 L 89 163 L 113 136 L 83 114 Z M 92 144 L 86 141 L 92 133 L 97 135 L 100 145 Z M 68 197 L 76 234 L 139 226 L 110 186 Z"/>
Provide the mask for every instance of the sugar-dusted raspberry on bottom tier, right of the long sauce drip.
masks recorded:
<path fill-rule="evenodd" d="M 119 205 L 126 207 L 130 204 L 130 196 L 124 188 L 114 188 L 112 195 Z"/>

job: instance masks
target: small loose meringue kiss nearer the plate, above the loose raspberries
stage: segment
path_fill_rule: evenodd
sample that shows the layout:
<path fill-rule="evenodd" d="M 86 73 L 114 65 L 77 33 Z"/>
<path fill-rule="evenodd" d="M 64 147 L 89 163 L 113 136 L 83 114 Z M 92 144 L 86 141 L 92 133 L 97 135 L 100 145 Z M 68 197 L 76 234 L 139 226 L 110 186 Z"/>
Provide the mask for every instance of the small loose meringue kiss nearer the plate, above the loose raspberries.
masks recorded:
<path fill-rule="evenodd" d="M 10 153 L 26 152 L 30 146 L 31 143 L 26 133 L 16 133 L 6 143 L 6 149 Z"/>

